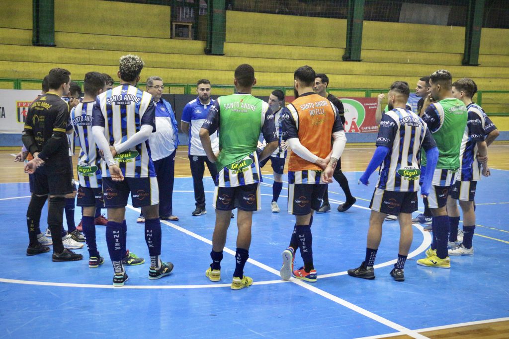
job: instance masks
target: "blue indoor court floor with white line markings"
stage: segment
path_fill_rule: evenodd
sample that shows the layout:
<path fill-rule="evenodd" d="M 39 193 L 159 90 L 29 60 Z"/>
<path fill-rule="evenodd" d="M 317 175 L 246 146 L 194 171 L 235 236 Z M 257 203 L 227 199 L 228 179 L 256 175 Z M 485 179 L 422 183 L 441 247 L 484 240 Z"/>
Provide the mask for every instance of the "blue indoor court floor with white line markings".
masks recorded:
<path fill-rule="evenodd" d="M 0 338 L 355 338 L 389 333 L 422 338 L 416 330 L 509 319 L 509 171 L 492 169 L 492 176 L 477 185 L 475 255 L 451 257 L 451 269 L 417 266 L 431 235 L 414 225 L 402 283 L 389 276 L 398 254 L 397 222 L 384 223 L 376 279 L 346 274 L 364 258 L 367 207 L 377 175 L 365 187 L 357 184 L 361 174 L 346 173 L 357 197 L 354 207 L 345 213 L 335 210 L 344 195 L 334 182 L 329 187 L 332 212 L 315 217 L 313 252 L 319 280 L 314 284 L 279 278 L 280 254 L 290 240 L 294 217 L 285 212 L 285 189 L 279 198 L 281 213 L 270 212 L 272 179 L 265 175 L 263 209 L 253 215 L 245 267 L 254 284 L 240 291 L 230 289 L 236 219 L 229 231 L 221 282 L 211 283 L 204 274 L 214 228 L 210 178 L 205 179 L 208 213 L 201 217 L 191 216 L 191 178 L 176 178 L 173 208 L 180 220 L 162 222 L 162 259 L 175 264 L 174 272 L 150 281 L 148 263 L 127 267 L 129 281 L 123 288 L 111 285 L 113 270 L 103 226 L 97 226 L 97 240 L 106 263 L 99 268 L 89 268 L 87 260 L 53 263 L 51 252 L 27 257 L 29 185 L 0 184 Z M 148 259 L 137 215 L 138 210 L 128 206 L 127 246 Z M 76 223 L 79 219 L 76 208 Z M 41 220 L 44 231 L 46 208 Z M 86 248 L 76 252 L 88 259 Z M 296 262 L 302 264 L 300 254 Z"/>

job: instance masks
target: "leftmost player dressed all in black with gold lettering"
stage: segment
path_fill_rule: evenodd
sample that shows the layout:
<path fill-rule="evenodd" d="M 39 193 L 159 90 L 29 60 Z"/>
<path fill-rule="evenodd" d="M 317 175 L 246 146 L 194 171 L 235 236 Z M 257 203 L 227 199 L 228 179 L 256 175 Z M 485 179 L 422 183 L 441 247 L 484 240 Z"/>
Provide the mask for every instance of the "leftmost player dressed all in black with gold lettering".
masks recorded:
<path fill-rule="evenodd" d="M 37 98 L 29 108 L 22 141 L 34 159 L 26 163 L 25 171 L 34 175 L 34 192 L 27 218 L 40 218 L 40 209 L 49 196 L 48 227 L 53 242 L 53 261 L 75 261 L 83 256 L 64 248 L 61 237 L 65 195 L 72 193 L 72 167 L 69 163 L 68 143 L 65 137 L 69 120 L 69 106 L 61 97 L 68 93 L 71 73 L 54 68 L 49 71 L 49 91 Z M 34 202 L 37 206 L 32 206 Z M 34 213 L 32 215 L 32 213 Z M 37 214 L 37 215 L 36 215 Z M 27 255 L 49 252 L 39 244 L 35 229 L 29 227 L 30 244 Z"/>

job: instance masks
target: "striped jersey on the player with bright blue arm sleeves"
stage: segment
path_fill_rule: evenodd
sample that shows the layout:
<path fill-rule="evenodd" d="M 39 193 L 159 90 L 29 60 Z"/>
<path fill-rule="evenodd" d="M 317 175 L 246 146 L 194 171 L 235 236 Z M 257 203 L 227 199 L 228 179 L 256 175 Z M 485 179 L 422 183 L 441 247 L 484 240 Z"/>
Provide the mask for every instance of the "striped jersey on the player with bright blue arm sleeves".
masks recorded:
<path fill-rule="evenodd" d="M 420 150 L 436 146 L 425 122 L 408 109 L 394 108 L 382 116 L 376 145 L 389 147 L 376 187 L 386 191 L 417 192 Z"/>

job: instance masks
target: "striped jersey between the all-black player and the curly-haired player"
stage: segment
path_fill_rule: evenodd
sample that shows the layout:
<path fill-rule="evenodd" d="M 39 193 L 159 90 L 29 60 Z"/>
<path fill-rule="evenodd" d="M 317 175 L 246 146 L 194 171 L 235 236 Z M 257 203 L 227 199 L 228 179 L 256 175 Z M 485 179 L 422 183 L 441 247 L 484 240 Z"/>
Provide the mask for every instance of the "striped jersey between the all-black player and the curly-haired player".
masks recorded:
<path fill-rule="evenodd" d="M 94 102 L 79 103 L 71 110 L 71 124 L 79 140 L 78 179 L 82 187 L 101 187 L 101 157 L 92 134 Z"/>

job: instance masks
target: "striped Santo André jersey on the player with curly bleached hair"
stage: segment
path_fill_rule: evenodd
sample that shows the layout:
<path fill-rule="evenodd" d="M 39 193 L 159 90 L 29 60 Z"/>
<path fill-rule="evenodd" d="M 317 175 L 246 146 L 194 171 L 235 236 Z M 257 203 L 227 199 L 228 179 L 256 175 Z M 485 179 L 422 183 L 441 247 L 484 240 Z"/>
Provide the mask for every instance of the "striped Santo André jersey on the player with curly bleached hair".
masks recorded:
<path fill-rule="evenodd" d="M 105 128 L 105 136 L 117 146 L 139 131 L 142 125 L 155 130 L 155 106 L 152 95 L 129 84 L 122 84 L 97 96 L 93 108 L 93 126 Z M 125 177 L 155 177 L 148 140 L 115 157 Z M 102 162 L 102 176 L 109 177 L 108 166 Z"/>

